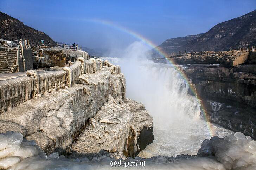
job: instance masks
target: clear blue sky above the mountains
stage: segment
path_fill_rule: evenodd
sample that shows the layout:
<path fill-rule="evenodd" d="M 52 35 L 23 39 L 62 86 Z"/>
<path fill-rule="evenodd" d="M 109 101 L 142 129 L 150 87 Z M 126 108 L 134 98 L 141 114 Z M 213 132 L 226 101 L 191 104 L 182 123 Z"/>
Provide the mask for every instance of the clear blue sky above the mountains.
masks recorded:
<path fill-rule="evenodd" d="M 0 11 L 53 40 L 89 48 L 122 48 L 138 39 L 92 22 L 132 30 L 155 45 L 168 38 L 207 32 L 217 23 L 256 9 L 256 0 L 0 0 Z"/>

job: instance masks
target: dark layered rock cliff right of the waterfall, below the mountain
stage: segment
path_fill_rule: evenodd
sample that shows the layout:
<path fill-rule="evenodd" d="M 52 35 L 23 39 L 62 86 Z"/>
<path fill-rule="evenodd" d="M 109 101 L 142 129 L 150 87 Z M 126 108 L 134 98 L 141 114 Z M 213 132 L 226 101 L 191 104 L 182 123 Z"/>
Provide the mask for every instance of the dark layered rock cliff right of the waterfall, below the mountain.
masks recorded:
<path fill-rule="evenodd" d="M 209 57 L 196 55 L 189 60 L 179 57 L 186 65 L 177 65 L 192 86 L 190 93 L 201 100 L 207 121 L 252 138 L 256 138 L 254 56 L 255 52 L 213 52 Z M 207 58 L 215 58 L 219 64 L 200 64 L 207 63 Z"/>

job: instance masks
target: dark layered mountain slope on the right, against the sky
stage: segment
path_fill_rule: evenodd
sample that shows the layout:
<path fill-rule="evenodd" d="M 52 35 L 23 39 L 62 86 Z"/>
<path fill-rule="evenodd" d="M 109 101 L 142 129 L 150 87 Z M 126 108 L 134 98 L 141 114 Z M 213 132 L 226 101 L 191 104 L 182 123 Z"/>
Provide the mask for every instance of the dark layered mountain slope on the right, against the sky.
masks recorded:
<path fill-rule="evenodd" d="M 179 51 L 224 51 L 247 48 L 247 45 L 256 45 L 256 10 L 212 27 L 203 34 L 188 35 L 182 38 L 167 39 L 159 45 L 167 55 L 178 53 Z M 158 57 L 157 53 L 153 53 Z"/>

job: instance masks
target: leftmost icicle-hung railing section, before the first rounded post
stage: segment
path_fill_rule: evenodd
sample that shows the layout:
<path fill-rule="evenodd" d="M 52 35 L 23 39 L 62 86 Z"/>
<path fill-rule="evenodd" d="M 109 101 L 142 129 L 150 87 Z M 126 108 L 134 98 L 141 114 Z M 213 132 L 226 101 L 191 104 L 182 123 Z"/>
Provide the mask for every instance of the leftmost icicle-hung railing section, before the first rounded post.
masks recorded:
<path fill-rule="evenodd" d="M 0 114 L 33 98 L 34 79 L 21 76 L 0 81 Z"/>

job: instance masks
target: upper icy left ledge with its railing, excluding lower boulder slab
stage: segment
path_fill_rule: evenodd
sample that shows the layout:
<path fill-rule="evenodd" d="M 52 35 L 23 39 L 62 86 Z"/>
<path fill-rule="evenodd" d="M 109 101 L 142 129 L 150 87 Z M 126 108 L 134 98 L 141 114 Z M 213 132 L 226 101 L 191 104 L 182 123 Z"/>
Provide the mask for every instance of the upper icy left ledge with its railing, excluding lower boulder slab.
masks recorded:
<path fill-rule="evenodd" d="M 20 132 L 46 153 L 68 153 L 72 140 L 107 102 L 109 94 L 120 99 L 125 94 L 123 74 L 97 70 L 102 67 L 101 60 L 90 61 L 97 61 L 98 68 L 96 64 L 92 67 L 95 73 L 82 74 L 87 63 L 78 58 L 63 70 L 28 70 L 27 76 L 1 81 L 0 132 Z"/>

